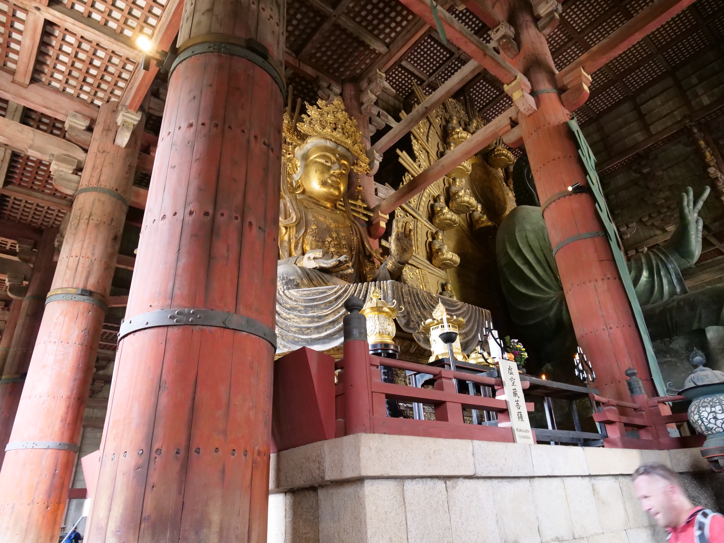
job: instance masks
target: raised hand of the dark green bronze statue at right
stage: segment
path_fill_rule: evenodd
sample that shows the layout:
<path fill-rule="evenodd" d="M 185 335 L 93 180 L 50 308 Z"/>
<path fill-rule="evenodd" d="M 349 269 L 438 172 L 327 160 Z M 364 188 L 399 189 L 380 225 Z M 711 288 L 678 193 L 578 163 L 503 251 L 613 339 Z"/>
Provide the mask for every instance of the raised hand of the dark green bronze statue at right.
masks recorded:
<path fill-rule="evenodd" d="M 679 199 L 679 224 L 673 235 L 665 243 L 666 251 L 671 255 L 679 269 L 694 266 L 702 254 L 702 228 L 704 221 L 699 216 L 699 210 L 709 195 L 710 188 L 704 187 L 699 198 L 694 201 L 694 191 L 691 187 L 681 193 Z"/>

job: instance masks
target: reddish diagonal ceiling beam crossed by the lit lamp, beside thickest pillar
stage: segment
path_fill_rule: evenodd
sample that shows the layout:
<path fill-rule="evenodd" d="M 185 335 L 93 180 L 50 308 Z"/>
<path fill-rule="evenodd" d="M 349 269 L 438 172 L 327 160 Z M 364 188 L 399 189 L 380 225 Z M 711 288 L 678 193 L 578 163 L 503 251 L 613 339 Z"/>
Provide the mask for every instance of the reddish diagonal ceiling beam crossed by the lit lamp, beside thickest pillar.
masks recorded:
<path fill-rule="evenodd" d="M 156 30 L 153 31 L 151 46 L 154 51 L 169 51 L 181 26 L 182 15 L 183 0 L 169 0 Z M 138 111 L 159 70 L 156 62 L 151 62 L 151 67 L 146 71 L 141 70 L 140 64 L 137 64 L 121 96 L 121 105 L 127 106 L 131 111 Z"/>

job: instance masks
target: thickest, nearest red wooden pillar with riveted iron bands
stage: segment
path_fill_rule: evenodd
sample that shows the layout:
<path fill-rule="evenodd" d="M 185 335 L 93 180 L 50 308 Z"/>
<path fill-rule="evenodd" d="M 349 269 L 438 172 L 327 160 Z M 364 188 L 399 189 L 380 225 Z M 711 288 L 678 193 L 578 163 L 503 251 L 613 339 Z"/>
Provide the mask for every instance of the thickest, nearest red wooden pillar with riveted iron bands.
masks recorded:
<path fill-rule="evenodd" d="M 266 542 L 284 17 L 186 1 L 88 543 Z"/>

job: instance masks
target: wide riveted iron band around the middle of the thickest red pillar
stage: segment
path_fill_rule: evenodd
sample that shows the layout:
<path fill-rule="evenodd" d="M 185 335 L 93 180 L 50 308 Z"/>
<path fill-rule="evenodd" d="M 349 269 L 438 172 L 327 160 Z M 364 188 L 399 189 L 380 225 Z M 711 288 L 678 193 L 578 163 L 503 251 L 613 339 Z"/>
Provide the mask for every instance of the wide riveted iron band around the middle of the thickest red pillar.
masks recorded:
<path fill-rule="evenodd" d="M 274 350 L 277 349 L 277 334 L 273 328 L 248 316 L 211 309 L 161 309 L 140 313 L 122 322 L 118 340 L 146 328 L 174 327 L 183 324 L 239 330 L 261 337 L 271 343 Z"/>

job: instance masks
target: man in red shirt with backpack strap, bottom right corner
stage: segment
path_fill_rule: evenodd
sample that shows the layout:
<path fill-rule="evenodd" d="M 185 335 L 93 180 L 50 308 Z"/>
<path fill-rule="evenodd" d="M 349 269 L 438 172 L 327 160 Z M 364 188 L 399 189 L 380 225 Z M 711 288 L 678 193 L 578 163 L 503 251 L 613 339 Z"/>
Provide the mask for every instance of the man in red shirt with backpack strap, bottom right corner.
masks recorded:
<path fill-rule="evenodd" d="M 660 463 L 633 472 L 641 508 L 668 531 L 668 543 L 724 543 L 724 515 L 694 507 L 678 473 Z"/>

